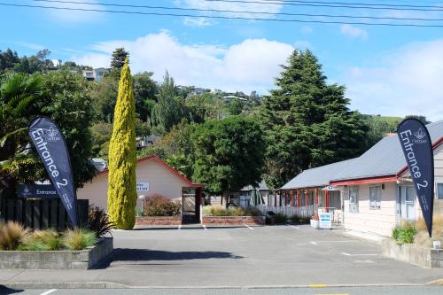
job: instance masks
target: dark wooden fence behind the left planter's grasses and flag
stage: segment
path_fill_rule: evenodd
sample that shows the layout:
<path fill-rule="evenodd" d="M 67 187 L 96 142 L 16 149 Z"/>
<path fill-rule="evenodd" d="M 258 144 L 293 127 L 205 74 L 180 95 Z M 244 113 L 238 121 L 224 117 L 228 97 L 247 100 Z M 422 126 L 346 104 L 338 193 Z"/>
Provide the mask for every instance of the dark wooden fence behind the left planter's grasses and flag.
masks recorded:
<path fill-rule="evenodd" d="M 77 200 L 80 226 L 88 224 L 89 200 Z M 70 226 L 59 198 L 25 199 L 0 197 L 0 222 L 18 221 L 33 229 L 66 229 Z"/>

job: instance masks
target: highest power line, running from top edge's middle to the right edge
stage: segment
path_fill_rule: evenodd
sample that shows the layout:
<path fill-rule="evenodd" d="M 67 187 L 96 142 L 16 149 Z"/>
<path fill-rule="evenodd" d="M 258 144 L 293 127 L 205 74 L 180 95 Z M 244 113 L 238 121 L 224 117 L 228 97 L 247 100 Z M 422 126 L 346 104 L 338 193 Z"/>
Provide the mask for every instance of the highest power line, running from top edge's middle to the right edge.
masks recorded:
<path fill-rule="evenodd" d="M 307 3 L 295 3 L 289 2 L 288 0 L 274 0 L 274 1 L 245 1 L 245 0 L 205 0 L 209 2 L 225 2 L 225 3 L 241 3 L 241 4 L 280 4 L 280 5 L 291 5 L 291 6 L 308 6 L 308 7 L 329 7 L 329 8 L 350 8 L 350 9 L 369 9 L 369 10 L 387 10 L 387 11 L 416 11 L 416 12 L 443 12 L 443 6 L 429 6 L 437 7 L 437 9 L 428 8 L 416 8 L 413 7 L 380 7 L 380 6 L 361 6 L 361 4 L 307 4 Z M 366 4 L 368 5 L 368 4 Z"/>

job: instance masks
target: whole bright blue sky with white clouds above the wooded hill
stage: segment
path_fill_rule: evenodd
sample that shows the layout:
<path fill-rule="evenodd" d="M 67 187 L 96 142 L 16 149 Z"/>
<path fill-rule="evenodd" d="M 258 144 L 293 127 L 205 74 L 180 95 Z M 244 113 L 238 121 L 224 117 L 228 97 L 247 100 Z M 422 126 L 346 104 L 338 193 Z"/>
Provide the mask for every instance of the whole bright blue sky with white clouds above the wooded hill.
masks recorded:
<path fill-rule="evenodd" d="M 346 97 L 361 113 L 403 116 L 410 113 L 443 119 L 443 27 L 375 27 L 260 20 L 205 19 L 203 14 L 228 17 L 330 20 L 324 17 L 288 17 L 246 12 L 315 13 L 375 17 L 443 19 L 442 12 L 389 11 L 294 6 L 290 2 L 205 0 L 72 0 L 89 4 L 61 4 L 30 0 L 0 0 L 4 4 L 31 4 L 98 10 L 173 12 L 159 9 L 113 7 L 134 4 L 235 12 L 184 12 L 199 18 L 80 12 L 0 5 L 0 50 L 19 55 L 48 48 L 52 59 L 74 60 L 90 66 L 108 66 L 116 47 L 129 50 L 133 72 L 152 71 L 160 81 L 166 70 L 178 84 L 206 88 L 255 89 L 267 94 L 294 48 L 309 48 L 323 64 L 329 82 L 347 87 Z M 253 1 L 253 0 L 249 0 Z M 285 0 L 287 1 L 287 0 Z M 323 0 L 323 2 L 334 2 Z M 443 1 L 335 2 L 442 6 Z M 299 3 L 300 4 L 300 3 Z M 343 20 L 343 19 L 341 19 Z M 349 19 L 348 19 L 349 20 Z M 356 22 L 397 22 L 351 19 Z M 439 22 L 403 21 L 413 24 Z"/>

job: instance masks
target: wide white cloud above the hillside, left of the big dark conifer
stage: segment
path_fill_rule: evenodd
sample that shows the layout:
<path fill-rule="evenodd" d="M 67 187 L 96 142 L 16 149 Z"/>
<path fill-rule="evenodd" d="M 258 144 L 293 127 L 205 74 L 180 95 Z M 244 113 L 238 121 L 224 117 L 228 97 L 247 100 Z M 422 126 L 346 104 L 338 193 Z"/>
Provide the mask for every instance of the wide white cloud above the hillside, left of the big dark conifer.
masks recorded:
<path fill-rule="evenodd" d="M 165 31 L 135 41 L 97 43 L 91 47 L 97 53 L 71 59 L 83 65 L 109 66 L 117 47 L 129 51 L 133 73 L 152 71 L 157 81 L 167 70 L 177 84 L 260 93 L 273 87 L 279 65 L 294 50 L 290 44 L 267 39 L 246 39 L 229 47 L 185 45 Z"/>

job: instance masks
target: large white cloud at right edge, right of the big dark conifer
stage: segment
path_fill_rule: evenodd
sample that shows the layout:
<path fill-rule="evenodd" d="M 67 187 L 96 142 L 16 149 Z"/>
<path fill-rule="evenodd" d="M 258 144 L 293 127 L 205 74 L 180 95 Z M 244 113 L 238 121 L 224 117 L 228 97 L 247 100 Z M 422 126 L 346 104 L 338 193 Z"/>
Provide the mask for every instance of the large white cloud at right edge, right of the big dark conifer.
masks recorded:
<path fill-rule="evenodd" d="M 377 58 L 370 67 L 352 67 L 342 80 L 347 97 L 362 113 L 443 119 L 443 39 L 411 43 Z"/>

